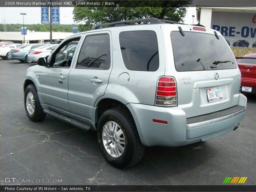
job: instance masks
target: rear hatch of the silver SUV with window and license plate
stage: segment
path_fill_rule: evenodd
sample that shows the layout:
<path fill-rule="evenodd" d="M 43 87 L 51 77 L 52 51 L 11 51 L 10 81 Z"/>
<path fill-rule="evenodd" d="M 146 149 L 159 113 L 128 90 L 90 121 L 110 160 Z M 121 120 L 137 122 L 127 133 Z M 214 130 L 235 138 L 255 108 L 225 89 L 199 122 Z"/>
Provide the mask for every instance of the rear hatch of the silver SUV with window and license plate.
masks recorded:
<path fill-rule="evenodd" d="M 178 107 L 188 118 L 238 105 L 241 76 L 225 39 L 212 29 L 175 27 L 170 32 L 174 60 L 168 63 L 174 68 L 165 76 L 176 79 Z"/>

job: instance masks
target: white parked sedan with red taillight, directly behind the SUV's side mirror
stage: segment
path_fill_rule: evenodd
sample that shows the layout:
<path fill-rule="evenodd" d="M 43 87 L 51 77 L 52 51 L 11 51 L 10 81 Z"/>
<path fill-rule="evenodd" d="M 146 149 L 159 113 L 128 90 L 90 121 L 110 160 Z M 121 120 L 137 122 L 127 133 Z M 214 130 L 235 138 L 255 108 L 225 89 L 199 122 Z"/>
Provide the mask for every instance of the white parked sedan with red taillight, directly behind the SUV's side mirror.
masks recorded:
<path fill-rule="evenodd" d="M 28 52 L 28 60 L 37 61 L 41 57 L 49 56 L 59 44 L 46 44 L 36 49 L 30 49 Z"/>

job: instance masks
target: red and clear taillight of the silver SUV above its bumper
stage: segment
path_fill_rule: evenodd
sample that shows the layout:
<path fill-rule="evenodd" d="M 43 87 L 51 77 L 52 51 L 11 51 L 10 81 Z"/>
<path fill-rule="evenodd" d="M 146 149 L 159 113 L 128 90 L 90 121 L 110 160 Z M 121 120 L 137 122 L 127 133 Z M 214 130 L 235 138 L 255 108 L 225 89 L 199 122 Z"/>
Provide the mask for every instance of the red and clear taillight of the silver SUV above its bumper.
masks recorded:
<path fill-rule="evenodd" d="M 156 105 L 177 106 L 177 86 L 174 77 L 160 77 L 158 79 Z"/>

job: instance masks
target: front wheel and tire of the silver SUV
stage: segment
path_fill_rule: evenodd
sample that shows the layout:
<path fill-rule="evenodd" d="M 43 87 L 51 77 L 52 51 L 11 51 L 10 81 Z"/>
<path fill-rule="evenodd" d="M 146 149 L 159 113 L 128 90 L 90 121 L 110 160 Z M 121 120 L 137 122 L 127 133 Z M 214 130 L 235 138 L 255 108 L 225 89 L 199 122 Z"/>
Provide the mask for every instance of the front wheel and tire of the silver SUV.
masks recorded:
<path fill-rule="evenodd" d="M 24 107 L 31 121 L 37 122 L 44 120 L 45 114 L 38 99 L 36 86 L 34 84 L 28 85 L 25 90 Z"/>

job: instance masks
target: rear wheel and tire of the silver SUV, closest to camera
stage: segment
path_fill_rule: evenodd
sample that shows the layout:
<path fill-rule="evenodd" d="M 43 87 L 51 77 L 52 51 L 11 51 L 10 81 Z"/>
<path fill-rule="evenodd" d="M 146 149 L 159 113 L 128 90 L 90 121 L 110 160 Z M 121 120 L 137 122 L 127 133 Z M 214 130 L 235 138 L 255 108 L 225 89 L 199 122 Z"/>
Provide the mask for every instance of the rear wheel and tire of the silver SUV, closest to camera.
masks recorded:
<path fill-rule="evenodd" d="M 131 113 L 125 108 L 106 110 L 100 116 L 97 136 L 103 156 L 116 168 L 131 167 L 144 155 L 145 146 L 140 141 Z"/>

